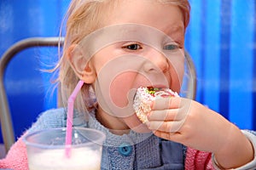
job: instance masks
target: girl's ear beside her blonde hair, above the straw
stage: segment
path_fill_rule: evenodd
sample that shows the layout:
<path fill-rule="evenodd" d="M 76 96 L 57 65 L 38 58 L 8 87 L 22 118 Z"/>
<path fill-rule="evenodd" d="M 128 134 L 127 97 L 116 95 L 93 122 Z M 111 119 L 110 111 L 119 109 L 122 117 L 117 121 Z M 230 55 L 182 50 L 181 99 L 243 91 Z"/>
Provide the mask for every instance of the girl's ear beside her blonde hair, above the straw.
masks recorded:
<path fill-rule="evenodd" d="M 72 45 L 67 50 L 67 57 L 73 71 L 85 83 L 93 83 L 96 81 L 96 71 L 93 67 L 91 59 L 84 54 L 79 45 Z"/>

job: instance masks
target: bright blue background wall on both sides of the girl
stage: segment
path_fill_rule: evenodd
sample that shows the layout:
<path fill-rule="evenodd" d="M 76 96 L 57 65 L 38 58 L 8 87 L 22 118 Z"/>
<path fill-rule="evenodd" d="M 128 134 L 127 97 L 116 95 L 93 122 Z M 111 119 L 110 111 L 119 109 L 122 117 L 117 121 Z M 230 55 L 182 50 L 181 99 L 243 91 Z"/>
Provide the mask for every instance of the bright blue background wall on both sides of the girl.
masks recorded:
<path fill-rule="evenodd" d="M 58 36 L 68 3 L 69 0 L 1 0 L 0 56 L 26 37 Z M 190 3 L 185 46 L 198 74 L 196 100 L 238 127 L 256 130 L 255 0 Z M 44 58 L 39 59 L 39 55 Z M 17 54 L 7 69 L 5 85 L 16 137 L 36 121 L 39 112 L 56 107 L 56 93 L 49 89 L 50 75 L 38 71 L 49 68 L 44 61 L 48 63 L 56 55 L 52 48 L 31 48 Z"/>

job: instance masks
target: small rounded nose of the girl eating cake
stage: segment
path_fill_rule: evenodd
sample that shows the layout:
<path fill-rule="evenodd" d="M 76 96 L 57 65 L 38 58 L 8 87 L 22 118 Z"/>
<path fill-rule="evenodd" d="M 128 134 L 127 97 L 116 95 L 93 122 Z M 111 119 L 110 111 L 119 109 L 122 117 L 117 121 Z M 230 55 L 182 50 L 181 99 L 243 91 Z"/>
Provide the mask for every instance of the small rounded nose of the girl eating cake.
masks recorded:
<path fill-rule="evenodd" d="M 150 50 L 148 52 L 148 62 L 143 65 L 143 69 L 146 72 L 166 72 L 169 69 L 168 59 L 164 54 L 161 54 L 157 50 Z"/>

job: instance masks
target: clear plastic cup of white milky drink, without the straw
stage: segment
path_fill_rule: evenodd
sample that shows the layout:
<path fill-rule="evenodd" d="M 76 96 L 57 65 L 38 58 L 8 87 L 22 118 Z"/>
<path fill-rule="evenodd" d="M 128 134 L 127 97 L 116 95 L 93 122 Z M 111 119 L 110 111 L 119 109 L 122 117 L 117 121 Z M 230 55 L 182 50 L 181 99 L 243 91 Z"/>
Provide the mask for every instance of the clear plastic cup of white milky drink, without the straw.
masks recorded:
<path fill-rule="evenodd" d="M 104 133 L 73 127 L 72 144 L 66 145 L 67 128 L 50 128 L 26 134 L 26 152 L 30 170 L 101 169 Z M 70 156 L 65 150 L 70 148 Z"/>

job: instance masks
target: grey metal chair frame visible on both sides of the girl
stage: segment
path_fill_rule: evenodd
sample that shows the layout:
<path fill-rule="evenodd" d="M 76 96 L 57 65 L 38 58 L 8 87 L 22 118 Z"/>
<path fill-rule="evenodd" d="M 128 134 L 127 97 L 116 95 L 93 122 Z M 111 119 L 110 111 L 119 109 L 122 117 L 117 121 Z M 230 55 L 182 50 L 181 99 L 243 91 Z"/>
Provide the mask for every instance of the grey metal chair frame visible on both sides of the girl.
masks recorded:
<path fill-rule="evenodd" d="M 9 111 L 9 101 L 7 99 L 6 88 L 3 84 L 3 77 L 9 61 L 15 57 L 15 54 L 26 48 L 32 47 L 50 47 L 59 46 L 59 42 L 63 42 L 63 38 L 60 37 L 32 37 L 16 42 L 10 47 L 6 53 L 3 54 L 0 59 L 0 121 L 3 133 L 3 143 L 5 150 L 8 151 L 12 144 L 15 143 L 15 135 L 13 129 L 13 122 L 11 121 L 11 113 Z M 196 74 L 195 65 L 189 56 L 189 53 L 185 51 L 185 57 L 187 59 L 187 65 L 189 67 L 189 81 L 187 82 L 188 92 L 186 97 L 189 99 L 195 99 L 196 90 Z M 61 98 L 60 98 L 61 99 Z M 60 104 L 61 102 L 58 102 Z"/>

